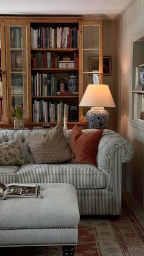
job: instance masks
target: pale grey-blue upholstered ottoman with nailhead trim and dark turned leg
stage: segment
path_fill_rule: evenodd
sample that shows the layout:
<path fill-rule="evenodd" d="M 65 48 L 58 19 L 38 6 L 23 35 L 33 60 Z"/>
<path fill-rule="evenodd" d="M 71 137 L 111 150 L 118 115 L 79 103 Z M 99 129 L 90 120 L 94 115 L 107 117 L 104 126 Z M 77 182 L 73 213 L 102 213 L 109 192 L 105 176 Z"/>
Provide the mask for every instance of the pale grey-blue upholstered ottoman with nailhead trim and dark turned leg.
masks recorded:
<path fill-rule="evenodd" d="M 65 183 L 40 184 L 40 198 L 0 200 L 0 246 L 63 246 L 74 255 L 79 208 L 76 190 Z"/>

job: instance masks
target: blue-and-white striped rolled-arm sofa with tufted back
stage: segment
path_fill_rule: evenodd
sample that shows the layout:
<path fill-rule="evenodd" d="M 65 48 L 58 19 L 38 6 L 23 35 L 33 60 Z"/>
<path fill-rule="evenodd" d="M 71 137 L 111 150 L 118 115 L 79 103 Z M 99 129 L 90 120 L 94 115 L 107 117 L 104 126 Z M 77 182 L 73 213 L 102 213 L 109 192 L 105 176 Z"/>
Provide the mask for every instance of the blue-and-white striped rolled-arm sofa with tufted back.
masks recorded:
<path fill-rule="evenodd" d="M 93 129 L 85 129 L 91 133 Z M 71 183 L 77 191 L 80 214 L 121 214 L 122 164 L 132 158 L 131 144 L 112 130 L 104 130 L 99 142 L 98 167 L 90 164 L 35 164 L 26 136 L 46 130 L 1 130 L 0 143 L 19 141 L 26 159 L 23 166 L 0 166 L 2 183 Z M 67 142 L 71 130 L 65 131 Z"/>

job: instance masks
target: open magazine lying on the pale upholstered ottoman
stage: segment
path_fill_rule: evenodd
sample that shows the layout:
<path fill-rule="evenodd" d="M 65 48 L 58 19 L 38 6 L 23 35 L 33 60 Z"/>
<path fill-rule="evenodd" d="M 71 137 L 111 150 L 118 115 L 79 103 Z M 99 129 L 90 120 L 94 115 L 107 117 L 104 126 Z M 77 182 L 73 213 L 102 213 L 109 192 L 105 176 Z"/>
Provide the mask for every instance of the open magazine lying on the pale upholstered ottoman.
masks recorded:
<path fill-rule="evenodd" d="M 13 197 L 38 197 L 40 198 L 40 186 L 33 184 L 12 183 L 4 185 L 0 183 L 0 199 L 9 199 Z"/>

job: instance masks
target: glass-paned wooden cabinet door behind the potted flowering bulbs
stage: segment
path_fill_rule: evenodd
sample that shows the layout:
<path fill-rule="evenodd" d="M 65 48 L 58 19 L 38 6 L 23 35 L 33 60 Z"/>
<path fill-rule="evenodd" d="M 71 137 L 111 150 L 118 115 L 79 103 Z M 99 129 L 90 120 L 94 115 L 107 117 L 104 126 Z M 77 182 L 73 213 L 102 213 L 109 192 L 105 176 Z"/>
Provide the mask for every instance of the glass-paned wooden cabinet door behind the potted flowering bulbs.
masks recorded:
<path fill-rule="evenodd" d="M 12 24 L 9 23 L 7 37 L 9 37 L 9 122 L 12 122 L 13 115 L 10 108 L 21 104 L 26 111 L 24 120 L 31 120 L 31 86 L 29 85 L 30 51 L 27 47 L 29 42 L 29 24 Z"/>

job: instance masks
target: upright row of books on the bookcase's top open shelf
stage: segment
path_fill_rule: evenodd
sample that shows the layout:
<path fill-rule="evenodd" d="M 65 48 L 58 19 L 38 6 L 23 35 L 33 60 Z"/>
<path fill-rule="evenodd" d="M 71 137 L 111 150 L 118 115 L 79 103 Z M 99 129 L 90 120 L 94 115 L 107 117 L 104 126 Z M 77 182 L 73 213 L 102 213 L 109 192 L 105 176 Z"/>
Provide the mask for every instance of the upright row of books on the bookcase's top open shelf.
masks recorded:
<path fill-rule="evenodd" d="M 77 27 L 31 28 L 31 47 L 35 48 L 78 48 Z"/>

